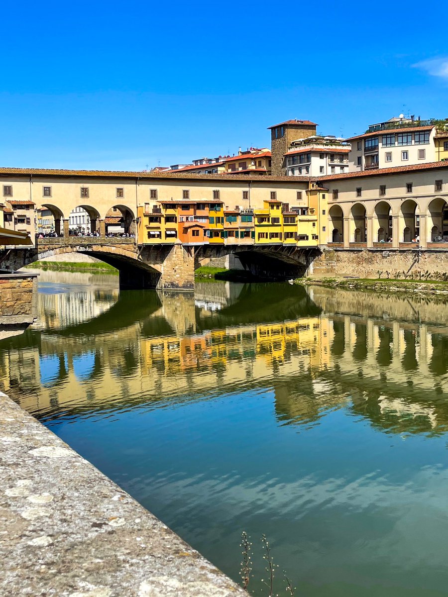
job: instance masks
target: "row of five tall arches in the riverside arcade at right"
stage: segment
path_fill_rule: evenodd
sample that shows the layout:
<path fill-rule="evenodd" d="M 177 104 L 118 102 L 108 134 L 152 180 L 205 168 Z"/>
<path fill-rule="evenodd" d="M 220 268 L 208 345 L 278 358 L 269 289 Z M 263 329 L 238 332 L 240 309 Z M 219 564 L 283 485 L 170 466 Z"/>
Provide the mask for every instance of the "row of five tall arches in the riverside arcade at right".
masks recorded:
<path fill-rule="evenodd" d="M 397 219 L 395 231 L 394 217 Z M 426 218 L 425 230 L 421 229 L 421 217 Z M 332 205 L 329 210 L 329 242 L 342 243 L 347 233 L 348 242 L 367 242 L 368 218 L 372 219 L 373 242 L 418 242 L 421 232 L 426 242 L 448 242 L 448 204 L 443 198 L 433 199 L 424 213 L 414 199 L 401 202 L 397 213 L 387 201 L 376 203 L 372 214 L 367 214 L 366 206 L 361 202 L 355 203 L 348 216 L 340 205 Z M 344 220 L 347 219 L 348 229 L 347 226 L 344 229 Z M 394 232 L 398 234 L 398 239 L 393 238 Z"/>

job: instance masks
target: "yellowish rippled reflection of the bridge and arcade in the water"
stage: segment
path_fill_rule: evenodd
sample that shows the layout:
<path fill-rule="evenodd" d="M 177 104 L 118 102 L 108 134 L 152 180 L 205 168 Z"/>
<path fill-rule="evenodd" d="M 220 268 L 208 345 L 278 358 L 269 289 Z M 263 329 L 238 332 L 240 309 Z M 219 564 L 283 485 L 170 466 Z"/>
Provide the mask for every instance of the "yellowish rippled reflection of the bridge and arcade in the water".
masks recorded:
<path fill-rule="evenodd" d="M 310 294 L 263 284 L 121 293 L 96 318 L 62 328 L 48 319 L 0 344 L 0 389 L 45 416 L 265 387 L 284 423 L 345 405 L 383 429 L 448 429 L 445 303 Z"/>

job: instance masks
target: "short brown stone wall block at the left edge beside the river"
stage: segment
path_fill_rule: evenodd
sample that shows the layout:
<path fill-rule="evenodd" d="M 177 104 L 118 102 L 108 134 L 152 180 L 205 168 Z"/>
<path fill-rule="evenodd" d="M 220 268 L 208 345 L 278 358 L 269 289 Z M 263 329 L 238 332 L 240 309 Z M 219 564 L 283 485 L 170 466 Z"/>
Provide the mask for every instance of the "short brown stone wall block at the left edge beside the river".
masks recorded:
<path fill-rule="evenodd" d="M 37 317 L 37 275 L 0 274 L 0 325 L 32 323 Z"/>

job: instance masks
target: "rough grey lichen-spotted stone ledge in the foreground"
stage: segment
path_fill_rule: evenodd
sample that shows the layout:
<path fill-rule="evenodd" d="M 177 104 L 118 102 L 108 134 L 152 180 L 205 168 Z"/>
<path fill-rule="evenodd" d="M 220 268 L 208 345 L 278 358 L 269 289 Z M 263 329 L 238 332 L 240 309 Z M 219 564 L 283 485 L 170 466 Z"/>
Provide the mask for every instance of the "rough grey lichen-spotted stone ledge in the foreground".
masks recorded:
<path fill-rule="evenodd" d="M 1 393 L 0 562 L 1 597 L 247 596 Z"/>

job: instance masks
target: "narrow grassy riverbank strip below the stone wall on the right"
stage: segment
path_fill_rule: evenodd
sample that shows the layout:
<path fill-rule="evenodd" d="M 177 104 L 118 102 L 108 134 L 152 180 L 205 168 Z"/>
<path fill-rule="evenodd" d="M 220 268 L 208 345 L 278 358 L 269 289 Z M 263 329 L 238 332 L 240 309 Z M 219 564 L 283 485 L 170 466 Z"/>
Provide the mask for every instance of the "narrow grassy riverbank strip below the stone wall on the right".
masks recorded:
<path fill-rule="evenodd" d="M 397 280 L 387 278 L 296 278 L 294 284 L 324 286 L 342 290 L 365 292 L 413 293 L 419 295 L 448 295 L 448 282 L 434 280 Z"/>

